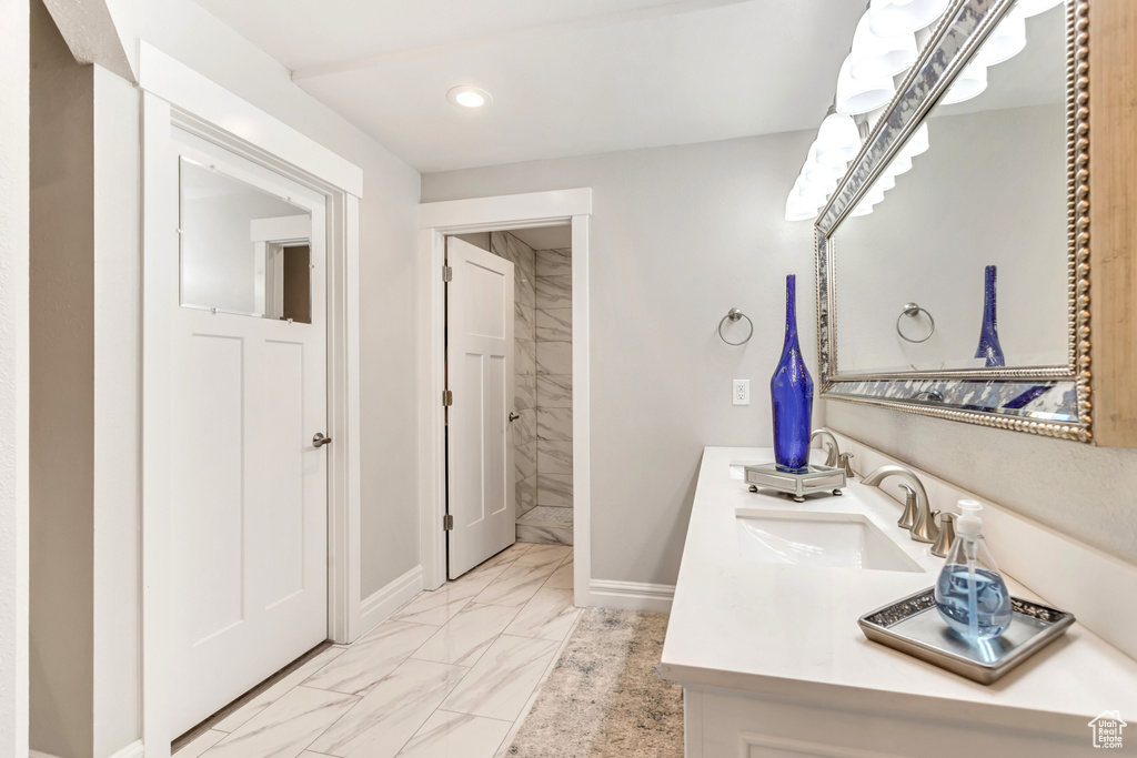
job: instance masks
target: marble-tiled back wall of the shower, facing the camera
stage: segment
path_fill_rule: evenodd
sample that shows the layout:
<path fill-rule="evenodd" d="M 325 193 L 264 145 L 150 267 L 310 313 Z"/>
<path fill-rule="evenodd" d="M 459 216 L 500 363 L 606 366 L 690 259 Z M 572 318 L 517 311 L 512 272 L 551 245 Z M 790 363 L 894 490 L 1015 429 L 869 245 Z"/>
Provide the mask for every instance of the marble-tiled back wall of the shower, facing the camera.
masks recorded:
<path fill-rule="evenodd" d="M 572 508 L 571 250 L 538 250 L 536 269 L 537 505 Z"/>

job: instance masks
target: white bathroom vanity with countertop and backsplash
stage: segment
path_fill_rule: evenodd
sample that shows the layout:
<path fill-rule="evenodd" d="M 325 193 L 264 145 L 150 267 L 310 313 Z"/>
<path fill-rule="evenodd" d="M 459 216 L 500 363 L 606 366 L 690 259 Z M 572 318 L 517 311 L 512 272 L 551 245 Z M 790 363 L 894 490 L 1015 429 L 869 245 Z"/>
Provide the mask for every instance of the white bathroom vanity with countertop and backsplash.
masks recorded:
<path fill-rule="evenodd" d="M 862 474 L 893 463 L 847 439 L 843 449 L 855 450 Z M 1137 643 L 1137 569 L 985 501 L 1012 594 L 1079 618 L 985 686 L 870 642 L 857 626 L 931 586 L 943 566 L 896 526 L 901 503 L 857 481 L 841 497 L 804 503 L 750 492 L 742 467 L 772 457 L 760 448 L 703 453 L 661 664 L 683 686 L 688 758 L 1068 758 L 1094 751 L 1088 723 L 1098 714 L 1137 723 L 1137 660 L 1119 649 Z M 918 475 L 936 507 L 973 497 Z M 781 545 L 755 540 L 755 525 Z M 1048 561 L 1065 570 L 1047 576 Z"/>

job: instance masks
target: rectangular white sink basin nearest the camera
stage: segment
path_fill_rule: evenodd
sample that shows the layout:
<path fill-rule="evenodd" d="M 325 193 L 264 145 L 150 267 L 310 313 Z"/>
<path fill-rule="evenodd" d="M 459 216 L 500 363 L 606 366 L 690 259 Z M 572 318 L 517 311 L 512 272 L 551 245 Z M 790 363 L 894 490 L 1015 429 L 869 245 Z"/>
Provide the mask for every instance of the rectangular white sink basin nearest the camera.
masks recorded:
<path fill-rule="evenodd" d="M 860 514 L 797 510 L 736 513 L 744 560 L 790 566 L 923 572 L 872 522 Z M 907 539 L 907 535 L 904 535 Z"/>

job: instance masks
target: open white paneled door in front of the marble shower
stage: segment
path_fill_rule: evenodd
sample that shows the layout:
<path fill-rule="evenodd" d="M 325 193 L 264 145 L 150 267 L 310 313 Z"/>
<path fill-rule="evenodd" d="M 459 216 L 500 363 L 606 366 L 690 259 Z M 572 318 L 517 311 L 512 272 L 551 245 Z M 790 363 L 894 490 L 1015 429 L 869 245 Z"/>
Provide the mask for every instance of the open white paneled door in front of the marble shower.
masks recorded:
<path fill-rule="evenodd" d="M 447 502 L 449 576 L 516 540 L 513 434 L 513 264 L 448 238 Z"/>

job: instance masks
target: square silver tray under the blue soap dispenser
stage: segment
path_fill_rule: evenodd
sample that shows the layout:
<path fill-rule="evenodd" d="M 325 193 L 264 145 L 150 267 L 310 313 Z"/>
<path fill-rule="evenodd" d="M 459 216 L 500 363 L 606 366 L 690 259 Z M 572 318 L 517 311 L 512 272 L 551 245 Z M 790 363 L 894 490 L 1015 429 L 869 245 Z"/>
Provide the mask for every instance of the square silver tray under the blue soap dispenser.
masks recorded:
<path fill-rule="evenodd" d="M 956 634 L 939 617 L 935 588 L 865 614 L 857 624 L 874 642 L 990 684 L 1062 636 L 1074 620 L 1073 614 L 1019 598 L 1011 598 L 1011 609 L 1007 631 L 978 642 Z"/>

